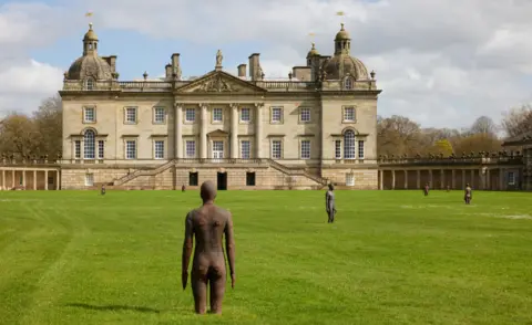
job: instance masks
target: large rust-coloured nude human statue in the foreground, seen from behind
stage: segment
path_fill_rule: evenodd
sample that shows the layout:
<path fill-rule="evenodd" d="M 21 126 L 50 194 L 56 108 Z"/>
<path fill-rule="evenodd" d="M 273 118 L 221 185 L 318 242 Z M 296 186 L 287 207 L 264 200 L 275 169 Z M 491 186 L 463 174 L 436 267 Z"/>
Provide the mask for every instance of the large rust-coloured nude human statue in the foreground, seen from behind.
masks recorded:
<path fill-rule="evenodd" d="M 231 271 L 231 286 L 235 287 L 235 240 L 231 212 L 214 205 L 216 188 L 212 181 L 201 187 L 203 206 L 186 216 L 185 241 L 183 243 L 182 283 L 186 289 L 188 262 L 194 238 L 196 249 L 192 263 L 191 285 L 197 314 L 207 310 L 207 284 L 211 286 L 211 313 L 222 314 L 225 293 L 226 266 L 222 238 L 225 234 L 225 250 Z"/>

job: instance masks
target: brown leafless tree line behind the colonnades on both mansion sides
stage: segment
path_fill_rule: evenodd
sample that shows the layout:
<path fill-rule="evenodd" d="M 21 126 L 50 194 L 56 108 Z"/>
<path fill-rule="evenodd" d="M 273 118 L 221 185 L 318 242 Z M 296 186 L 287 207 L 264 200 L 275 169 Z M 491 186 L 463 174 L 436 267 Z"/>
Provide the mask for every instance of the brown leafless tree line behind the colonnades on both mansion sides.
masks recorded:
<path fill-rule="evenodd" d="M 502 137 L 532 132 L 532 105 L 511 108 L 500 124 L 480 116 L 468 128 L 423 128 L 405 116 L 377 118 L 379 156 L 413 157 L 500 151 Z M 0 154 L 16 158 L 58 157 L 62 150 L 62 104 L 59 96 L 44 99 L 32 114 L 12 112 L 0 119 Z"/>

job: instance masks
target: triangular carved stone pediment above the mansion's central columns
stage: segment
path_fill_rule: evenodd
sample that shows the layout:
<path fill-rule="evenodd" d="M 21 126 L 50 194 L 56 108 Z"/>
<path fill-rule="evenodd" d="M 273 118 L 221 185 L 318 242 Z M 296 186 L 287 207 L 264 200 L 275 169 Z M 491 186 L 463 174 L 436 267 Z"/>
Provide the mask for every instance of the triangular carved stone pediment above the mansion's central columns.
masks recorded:
<path fill-rule="evenodd" d="M 213 71 L 177 90 L 180 93 L 257 93 L 266 92 L 257 85 L 223 71 Z"/>

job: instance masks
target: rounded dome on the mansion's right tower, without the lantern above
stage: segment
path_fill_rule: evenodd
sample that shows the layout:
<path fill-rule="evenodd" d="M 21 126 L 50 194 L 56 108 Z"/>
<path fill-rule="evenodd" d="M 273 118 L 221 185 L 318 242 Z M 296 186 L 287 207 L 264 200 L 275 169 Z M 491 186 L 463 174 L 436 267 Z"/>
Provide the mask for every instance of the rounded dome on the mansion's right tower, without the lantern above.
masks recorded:
<path fill-rule="evenodd" d="M 335 55 L 325 62 L 324 71 L 327 80 L 340 80 L 345 76 L 352 76 L 355 80 L 369 80 L 366 65 L 358 59 L 349 55 Z"/>

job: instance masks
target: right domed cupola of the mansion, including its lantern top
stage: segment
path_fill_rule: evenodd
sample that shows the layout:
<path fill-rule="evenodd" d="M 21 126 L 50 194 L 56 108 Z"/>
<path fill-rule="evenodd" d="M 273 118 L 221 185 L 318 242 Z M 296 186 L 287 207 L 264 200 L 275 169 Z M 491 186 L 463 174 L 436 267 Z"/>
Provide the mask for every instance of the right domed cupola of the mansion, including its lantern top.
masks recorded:
<path fill-rule="evenodd" d="M 346 77 L 355 81 L 369 80 L 366 65 L 360 60 L 350 56 L 350 50 L 351 39 L 341 24 L 341 29 L 335 38 L 335 55 L 323 65 L 327 80 L 345 80 Z"/>

